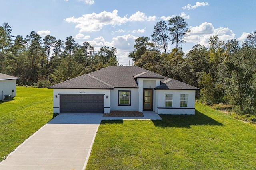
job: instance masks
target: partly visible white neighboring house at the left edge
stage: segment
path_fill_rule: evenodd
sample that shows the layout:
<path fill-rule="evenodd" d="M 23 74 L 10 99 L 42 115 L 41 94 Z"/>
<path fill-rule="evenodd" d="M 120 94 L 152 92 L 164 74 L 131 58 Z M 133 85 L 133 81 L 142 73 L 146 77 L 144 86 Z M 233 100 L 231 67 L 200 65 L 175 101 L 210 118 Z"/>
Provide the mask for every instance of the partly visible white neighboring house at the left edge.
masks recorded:
<path fill-rule="evenodd" d="M 19 78 L 0 73 L 0 100 L 4 100 L 4 95 L 16 96 L 16 79 Z"/>

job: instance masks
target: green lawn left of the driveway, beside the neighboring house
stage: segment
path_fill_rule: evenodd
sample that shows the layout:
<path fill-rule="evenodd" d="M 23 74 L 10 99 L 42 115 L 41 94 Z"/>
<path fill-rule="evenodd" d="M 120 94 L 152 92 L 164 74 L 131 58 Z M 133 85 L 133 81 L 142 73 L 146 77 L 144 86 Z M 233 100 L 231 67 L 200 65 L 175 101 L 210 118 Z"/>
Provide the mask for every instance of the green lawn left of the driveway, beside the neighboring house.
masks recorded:
<path fill-rule="evenodd" d="M 14 100 L 0 102 L 0 162 L 53 117 L 52 89 L 17 87 Z"/>

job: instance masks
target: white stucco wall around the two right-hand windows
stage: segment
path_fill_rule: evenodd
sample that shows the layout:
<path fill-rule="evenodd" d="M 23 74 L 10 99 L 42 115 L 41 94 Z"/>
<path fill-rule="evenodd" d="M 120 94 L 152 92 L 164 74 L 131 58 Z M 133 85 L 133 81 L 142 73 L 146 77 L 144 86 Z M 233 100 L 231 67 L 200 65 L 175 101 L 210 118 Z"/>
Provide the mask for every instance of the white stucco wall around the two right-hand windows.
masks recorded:
<path fill-rule="evenodd" d="M 195 90 L 157 90 L 158 114 L 195 114 Z M 165 107 L 165 94 L 172 94 L 172 107 Z M 188 107 L 180 107 L 180 94 L 188 94 Z M 163 108 L 165 107 L 165 108 Z M 171 108 L 171 109 L 170 109 Z"/>

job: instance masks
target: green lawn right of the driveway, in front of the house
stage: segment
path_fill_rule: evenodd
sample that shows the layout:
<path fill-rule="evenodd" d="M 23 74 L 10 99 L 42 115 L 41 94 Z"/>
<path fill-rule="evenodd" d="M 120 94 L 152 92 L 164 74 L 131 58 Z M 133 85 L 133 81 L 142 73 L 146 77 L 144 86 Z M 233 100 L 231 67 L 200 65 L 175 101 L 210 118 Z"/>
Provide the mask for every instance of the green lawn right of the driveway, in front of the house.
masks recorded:
<path fill-rule="evenodd" d="M 86 169 L 256 169 L 256 126 L 203 104 L 161 117 L 102 121 Z"/>

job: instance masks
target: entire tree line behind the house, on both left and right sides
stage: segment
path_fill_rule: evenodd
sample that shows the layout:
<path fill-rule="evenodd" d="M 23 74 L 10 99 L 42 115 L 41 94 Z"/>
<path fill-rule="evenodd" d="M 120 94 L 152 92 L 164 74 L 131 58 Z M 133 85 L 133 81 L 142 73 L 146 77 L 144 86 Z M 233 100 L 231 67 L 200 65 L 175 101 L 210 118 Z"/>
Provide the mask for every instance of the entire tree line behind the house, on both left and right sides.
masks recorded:
<path fill-rule="evenodd" d="M 48 87 L 118 65 L 116 48 L 94 52 L 88 42 L 79 45 L 70 36 L 66 41 L 47 35 L 42 39 L 32 31 L 13 40 L 8 23 L 0 26 L 0 72 L 20 77 L 20 85 Z M 133 65 L 200 88 L 198 96 L 206 104 L 230 104 L 236 113 L 256 113 L 256 31 L 239 45 L 236 39 L 220 41 L 211 36 L 208 46 L 195 45 L 182 51 L 190 30 L 184 18 L 159 21 L 150 37 L 135 39 L 129 54 Z M 175 47 L 168 49 L 170 44 Z"/>

